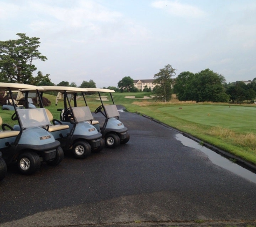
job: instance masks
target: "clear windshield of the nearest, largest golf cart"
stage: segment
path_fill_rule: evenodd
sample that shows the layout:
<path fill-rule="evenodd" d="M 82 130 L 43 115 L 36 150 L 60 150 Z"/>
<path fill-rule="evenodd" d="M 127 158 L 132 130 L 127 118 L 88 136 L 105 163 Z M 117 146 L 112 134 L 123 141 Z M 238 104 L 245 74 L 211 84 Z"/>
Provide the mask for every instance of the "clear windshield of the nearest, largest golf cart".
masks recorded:
<path fill-rule="evenodd" d="M 18 109 L 17 115 L 23 128 L 50 125 L 44 108 Z"/>

